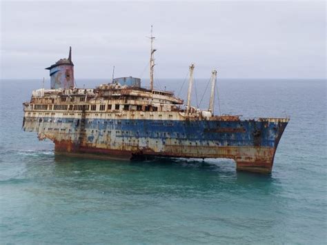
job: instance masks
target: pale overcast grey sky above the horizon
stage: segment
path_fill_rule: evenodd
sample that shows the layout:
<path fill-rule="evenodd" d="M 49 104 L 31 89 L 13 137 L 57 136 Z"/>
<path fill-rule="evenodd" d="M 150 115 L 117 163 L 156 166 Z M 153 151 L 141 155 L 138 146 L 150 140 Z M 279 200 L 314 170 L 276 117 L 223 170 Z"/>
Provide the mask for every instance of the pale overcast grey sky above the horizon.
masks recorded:
<path fill-rule="evenodd" d="M 75 78 L 148 78 L 150 25 L 155 78 L 326 77 L 324 1 L 1 3 L 1 77 L 48 78 L 68 57 Z"/>

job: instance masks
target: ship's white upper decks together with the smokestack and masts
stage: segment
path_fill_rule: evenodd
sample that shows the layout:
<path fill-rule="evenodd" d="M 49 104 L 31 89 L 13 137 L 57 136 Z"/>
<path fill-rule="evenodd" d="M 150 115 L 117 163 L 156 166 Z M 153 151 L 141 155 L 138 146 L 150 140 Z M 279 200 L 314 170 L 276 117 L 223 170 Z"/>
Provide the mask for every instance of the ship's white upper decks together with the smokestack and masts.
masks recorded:
<path fill-rule="evenodd" d="M 174 92 L 156 90 L 153 81 L 154 52 L 151 35 L 150 52 L 150 88 L 141 87 L 141 79 L 135 77 L 114 78 L 110 84 L 101 84 L 96 88 L 75 88 L 74 64 L 72 63 L 72 50 L 68 59 L 60 59 L 57 63 L 46 68 L 50 70 L 50 89 L 34 90 L 29 103 L 24 103 L 24 110 L 54 110 L 59 112 L 72 111 L 144 111 L 144 112 L 184 112 L 185 117 L 198 117 L 200 114 L 206 118 L 213 115 L 214 93 L 210 95 L 209 110 L 199 110 L 190 104 L 192 91 L 192 74 L 194 64 L 190 66 L 190 79 L 188 87 L 187 104 L 184 107 L 183 99 L 175 97 Z M 115 69 L 114 69 L 115 70 Z M 215 76 L 212 71 L 212 91 L 215 90 Z M 46 112 L 48 113 L 48 112 Z M 33 112 L 34 114 L 34 112 Z M 41 115 L 41 112 L 39 112 Z"/>

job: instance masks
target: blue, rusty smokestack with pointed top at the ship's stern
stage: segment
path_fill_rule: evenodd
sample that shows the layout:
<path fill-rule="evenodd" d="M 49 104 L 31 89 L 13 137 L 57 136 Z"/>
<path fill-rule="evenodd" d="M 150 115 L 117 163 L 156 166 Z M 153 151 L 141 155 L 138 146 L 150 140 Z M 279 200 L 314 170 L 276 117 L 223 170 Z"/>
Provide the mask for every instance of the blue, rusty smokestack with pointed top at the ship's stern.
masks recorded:
<path fill-rule="evenodd" d="M 74 87 L 74 63 L 72 63 L 72 47 L 69 47 L 68 59 L 59 59 L 50 70 L 51 89 Z"/>

